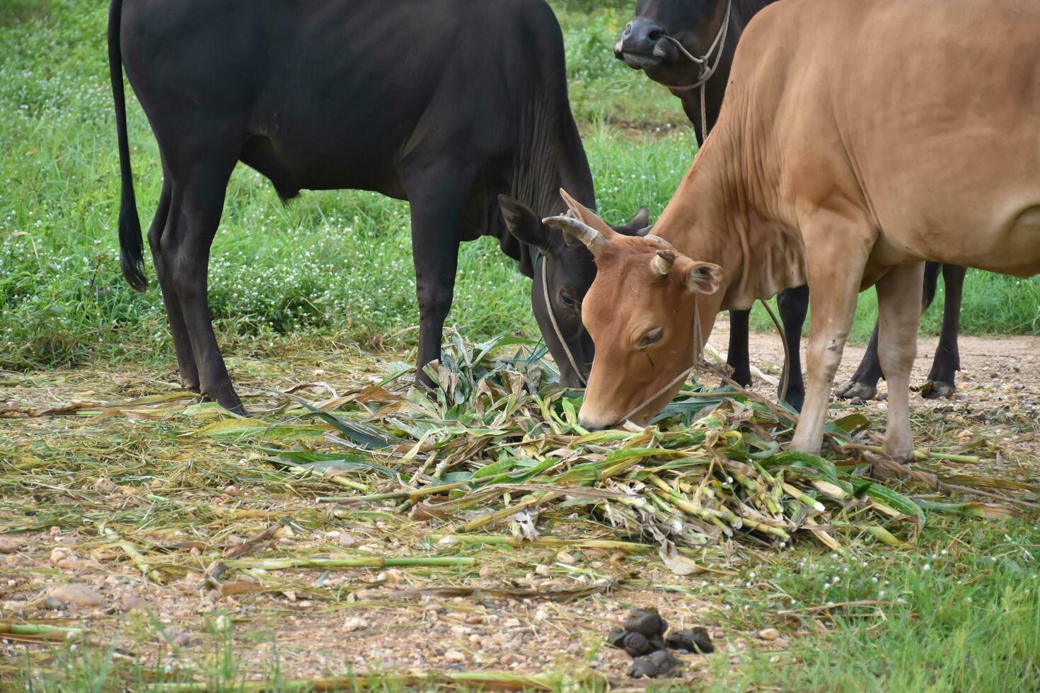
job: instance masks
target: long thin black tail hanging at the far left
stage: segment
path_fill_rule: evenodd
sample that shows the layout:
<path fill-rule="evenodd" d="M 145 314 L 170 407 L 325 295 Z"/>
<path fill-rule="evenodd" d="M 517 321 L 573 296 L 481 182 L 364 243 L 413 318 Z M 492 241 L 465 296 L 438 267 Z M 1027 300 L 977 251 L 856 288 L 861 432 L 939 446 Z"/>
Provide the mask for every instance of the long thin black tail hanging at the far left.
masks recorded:
<path fill-rule="evenodd" d="M 120 142 L 120 175 L 123 191 L 120 195 L 120 259 L 123 276 L 137 291 L 148 288 L 145 276 L 144 244 L 140 218 L 133 193 L 133 171 L 130 168 L 130 140 L 127 137 L 127 103 L 123 89 L 123 55 L 120 52 L 120 21 L 123 0 L 112 0 L 108 5 L 108 74 L 115 101 L 115 133 Z"/>

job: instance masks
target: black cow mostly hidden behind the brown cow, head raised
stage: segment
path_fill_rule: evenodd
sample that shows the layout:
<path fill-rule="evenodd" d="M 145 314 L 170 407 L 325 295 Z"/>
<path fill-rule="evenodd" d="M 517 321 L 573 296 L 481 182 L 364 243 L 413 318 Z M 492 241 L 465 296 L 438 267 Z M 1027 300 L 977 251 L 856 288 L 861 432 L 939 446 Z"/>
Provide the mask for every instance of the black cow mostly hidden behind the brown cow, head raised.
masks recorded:
<path fill-rule="evenodd" d="M 680 99 L 695 127 L 698 142 L 711 131 L 722 107 L 736 44 L 752 17 L 775 0 L 639 0 L 635 19 L 621 34 L 615 55 L 629 66 L 643 70 L 651 80 L 668 86 Z M 798 37 L 791 37 L 797 41 Z M 713 48 L 712 48 L 713 47 Z M 703 116 L 702 116 L 703 113 Z M 935 297 L 940 265 L 928 263 L 925 271 L 925 308 Z M 957 331 L 960 322 L 963 267 L 941 265 L 946 284 L 942 334 L 924 397 L 950 397 L 960 370 Z M 802 325 L 809 304 L 807 287 L 788 289 L 777 299 L 784 323 L 784 340 L 791 357 L 787 401 L 801 408 L 805 397 L 799 349 Z M 728 363 L 733 378 L 751 382 L 748 355 L 748 313 L 730 314 Z M 841 397 L 873 399 L 883 377 L 878 358 L 878 326 L 863 361 L 841 390 Z"/>

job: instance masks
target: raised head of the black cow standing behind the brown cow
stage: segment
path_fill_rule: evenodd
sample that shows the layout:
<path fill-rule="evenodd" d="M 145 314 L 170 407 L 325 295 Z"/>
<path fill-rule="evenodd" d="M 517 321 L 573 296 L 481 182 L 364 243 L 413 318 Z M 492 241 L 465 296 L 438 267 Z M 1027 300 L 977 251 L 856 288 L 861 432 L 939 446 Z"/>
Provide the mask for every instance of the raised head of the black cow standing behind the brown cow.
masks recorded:
<path fill-rule="evenodd" d="M 683 55 L 675 42 L 702 56 L 722 23 L 727 0 L 639 0 L 614 54 L 633 70 L 662 84 L 692 84 L 701 66 Z M 673 41 L 674 39 L 674 41 Z"/>

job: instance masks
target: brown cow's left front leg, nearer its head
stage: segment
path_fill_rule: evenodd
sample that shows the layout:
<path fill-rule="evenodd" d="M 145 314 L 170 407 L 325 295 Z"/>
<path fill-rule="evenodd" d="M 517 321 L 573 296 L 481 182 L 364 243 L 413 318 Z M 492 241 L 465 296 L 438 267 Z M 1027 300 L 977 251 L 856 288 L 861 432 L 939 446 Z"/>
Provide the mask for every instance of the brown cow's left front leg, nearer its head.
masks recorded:
<path fill-rule="evenodd" d="M 837 233 L 831 223 L 803 224 L 812 311 L 806 348 L 805 404 L 791 448 L 813 455 L 818 455 L 823 446 L 834 374 L 852 328 L 869 248 L 867 242 L 857 246 L 855 237 L 848 233 L 840 236 L 851 241 L 848 245 L 835 243 Z M 813 242 L 816 237 L 818 243 Z"/>

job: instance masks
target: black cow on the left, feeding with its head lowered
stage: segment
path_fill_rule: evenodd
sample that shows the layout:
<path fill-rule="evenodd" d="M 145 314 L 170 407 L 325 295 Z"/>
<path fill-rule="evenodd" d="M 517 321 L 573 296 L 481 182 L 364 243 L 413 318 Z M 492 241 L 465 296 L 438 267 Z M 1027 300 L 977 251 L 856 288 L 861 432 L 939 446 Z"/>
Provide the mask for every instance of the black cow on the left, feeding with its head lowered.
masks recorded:
<path fill-rule="evenodd" d="M 161 153 L 148 238 L 185 388 L 242 409 L 207 304 L 210 244 L 239 161 L 283 201 L 356 188 L 411 203 L 421 382 L 440 355 L 459 244 L 484 234 L 534 277 L 562 382 L 588 374 L 579 308 L 595 264 L 541 222 L 564 211 L 561 187 L 595 204 L 545 2 L 112 0 L 108 41 L 123 271 L 146 288 L 121 65 Z"/>

